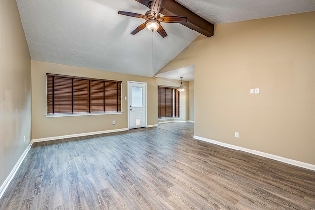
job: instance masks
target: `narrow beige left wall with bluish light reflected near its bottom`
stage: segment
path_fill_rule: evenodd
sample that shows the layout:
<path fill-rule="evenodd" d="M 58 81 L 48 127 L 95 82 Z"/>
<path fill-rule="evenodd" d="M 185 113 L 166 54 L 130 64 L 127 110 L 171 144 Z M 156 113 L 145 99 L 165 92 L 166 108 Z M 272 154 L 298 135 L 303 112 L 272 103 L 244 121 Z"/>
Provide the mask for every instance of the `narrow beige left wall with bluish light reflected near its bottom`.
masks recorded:
<path fill-rule="evenodd" d="M 32 139 L 31 82 L 16 1 L 0 0 L 0 186 Z"/>

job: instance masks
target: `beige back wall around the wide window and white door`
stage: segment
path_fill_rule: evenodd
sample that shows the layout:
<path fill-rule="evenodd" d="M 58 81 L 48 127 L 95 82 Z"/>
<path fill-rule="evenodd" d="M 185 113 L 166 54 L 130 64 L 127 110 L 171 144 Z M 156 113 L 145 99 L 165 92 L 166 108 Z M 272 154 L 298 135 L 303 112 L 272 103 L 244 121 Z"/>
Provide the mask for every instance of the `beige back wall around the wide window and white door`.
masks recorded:
<path fill-rule="evenodd" d="M 123 114 L 47 118 L 46 73 L 122 81 Z M 127 96 L 127 81 L 147 83 L 147 124 L 157 125 L 158 86 L 153 78 L 32 61 L 33 139 L 128 128 L 128 107 L 127 100 L 124 100 Z M 157 79 L 157 83 L 168 86 L 179 84 L 178 80 L 161 78 Z M 115 125 L 112 125 L 112 121 L 115 121 Z"/>

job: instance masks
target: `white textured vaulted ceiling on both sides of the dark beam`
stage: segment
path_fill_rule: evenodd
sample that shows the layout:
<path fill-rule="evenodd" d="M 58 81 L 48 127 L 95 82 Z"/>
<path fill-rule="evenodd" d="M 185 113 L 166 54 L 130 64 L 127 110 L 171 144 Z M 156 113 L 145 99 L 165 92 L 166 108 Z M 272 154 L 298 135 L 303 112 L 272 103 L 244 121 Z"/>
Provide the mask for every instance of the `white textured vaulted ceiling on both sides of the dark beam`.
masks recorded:
<path fill-rule="evenodd" d="M 214 24 L 315 10 L 315 0 L 178 2 Z M 134 0 L 17 0 L 17 3 L 32 60 L 153 76 L 199 35 L 178 23 L 162 23 L 168 34 L 166 38 L 147 29 L 131 35 L 144 20 L 117 12 L 145 14 L 148 8 Z"/>

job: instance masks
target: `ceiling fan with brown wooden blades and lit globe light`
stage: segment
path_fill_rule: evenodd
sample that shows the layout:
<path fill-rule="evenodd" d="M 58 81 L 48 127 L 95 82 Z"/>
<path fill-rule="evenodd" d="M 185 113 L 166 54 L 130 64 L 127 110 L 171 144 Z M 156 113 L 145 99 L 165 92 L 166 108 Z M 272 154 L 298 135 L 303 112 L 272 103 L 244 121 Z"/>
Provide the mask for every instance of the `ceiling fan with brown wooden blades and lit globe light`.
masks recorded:
<path fill-rule="evenodd" d="M 120 15 L 126 15 L 130 17 L 135 18 L 142 18 L 146 22 L 138 26 L 135 30 L 131 32 L 132 35 L 135 35 L 140 30 L 143 30 L 144 28 L 148 28 L 151 31 L 158 31 L 158 33 L 165 38 L 167 36 L 166 31 L 161 26 L 161 22 L 164 23 L 181 23 L 181 22 L 187 22 L 186 17 L 178 17 L 178 16 L 163 16 L 160 17 L 159 12 L 161 10 L 163 0 L 153 0 L 150 1 L 147 5 L 149 7 L 149 11 L 146 12 L 145 15 L 141 15 L 138 13 L 133 12 L 124 12 L 124 11 L 118 11 L 118 14 Z"/>

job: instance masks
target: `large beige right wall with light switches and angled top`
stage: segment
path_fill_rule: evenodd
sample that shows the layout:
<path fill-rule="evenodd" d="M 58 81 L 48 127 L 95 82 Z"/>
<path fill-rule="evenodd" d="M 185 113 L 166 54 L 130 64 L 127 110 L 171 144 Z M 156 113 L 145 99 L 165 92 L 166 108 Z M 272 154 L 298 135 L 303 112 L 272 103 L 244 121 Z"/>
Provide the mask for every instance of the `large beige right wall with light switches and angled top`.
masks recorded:
<path fill-rule="evenodd" d="M 315 12 L 217 25 L 161 72 L 192 64 L 196 136 L 315 164 Z"/>

